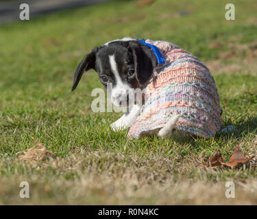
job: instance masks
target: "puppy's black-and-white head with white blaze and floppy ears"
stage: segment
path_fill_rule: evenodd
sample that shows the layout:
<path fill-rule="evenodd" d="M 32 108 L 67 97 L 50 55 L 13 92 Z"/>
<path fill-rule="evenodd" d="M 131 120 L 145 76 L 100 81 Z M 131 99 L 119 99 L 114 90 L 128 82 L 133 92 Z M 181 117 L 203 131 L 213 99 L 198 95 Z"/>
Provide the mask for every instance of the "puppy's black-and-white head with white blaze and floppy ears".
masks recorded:
<path fill-rule="evenodd" d="M 72 90 L 75 90 L 84 71 L 91 68 L 99 74 L 103 86 L 112 83 L 114 105 L 127 103 L 130 88 L 145 88 L 156 66 L 151 49 L 136 40 L 123 38 L 93 49 L 75 70 Z"/>

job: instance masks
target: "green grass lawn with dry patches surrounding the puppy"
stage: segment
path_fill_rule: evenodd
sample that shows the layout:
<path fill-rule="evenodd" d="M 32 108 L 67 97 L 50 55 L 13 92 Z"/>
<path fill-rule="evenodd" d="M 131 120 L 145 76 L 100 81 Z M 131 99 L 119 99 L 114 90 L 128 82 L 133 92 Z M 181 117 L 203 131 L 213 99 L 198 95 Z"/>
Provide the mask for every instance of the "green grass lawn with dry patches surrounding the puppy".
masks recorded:
<path fill-rule="evenodd" d="M 201 165 L 238 144 L 257 155 L 257 3 L 231 0 L 235 21 L 225 20 L 226 3 L 114 1 L 0 26 L 0 204 L 257 204 L 254 161 Z M 71 86 L 86 53 L 124 36 L 167 40 L 199 57 L 215 77 L 225 125 L 237 131 L 191 142 L 111 131 L 121 114 L 90 110 L 91 91 L 102 88 L 97 73 Z M 38 143 L 49 159 L 16 160 Z M 19 197 L 21 181 L 30 198 Z M 227 181 L 236 198 L 225 198 Z"/>

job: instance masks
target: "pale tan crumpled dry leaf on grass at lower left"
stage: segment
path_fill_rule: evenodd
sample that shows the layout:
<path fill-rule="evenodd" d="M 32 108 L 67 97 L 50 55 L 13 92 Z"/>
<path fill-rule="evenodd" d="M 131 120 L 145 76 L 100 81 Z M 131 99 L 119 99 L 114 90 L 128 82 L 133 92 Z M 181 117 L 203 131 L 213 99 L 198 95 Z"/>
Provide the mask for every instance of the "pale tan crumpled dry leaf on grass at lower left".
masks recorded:
<path fill-rule="evenodd" d="M 52 153 L 47 150 L 45 144 L 36 144 L 31 149 L 23 151 L 23 153 L 23 155 L 20 155 L 16 159 L 25 162 L 39 162 L 52 155 Z"/>

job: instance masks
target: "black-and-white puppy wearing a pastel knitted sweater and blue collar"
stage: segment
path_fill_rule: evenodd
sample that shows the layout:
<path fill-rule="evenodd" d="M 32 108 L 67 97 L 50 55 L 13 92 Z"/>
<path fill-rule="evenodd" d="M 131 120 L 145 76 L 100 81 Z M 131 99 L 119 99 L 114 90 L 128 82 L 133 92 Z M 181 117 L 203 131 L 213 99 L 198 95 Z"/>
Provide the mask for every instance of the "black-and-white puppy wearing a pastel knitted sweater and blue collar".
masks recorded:
<path fill-rule="evenodd" d="M 77 66 L 72 91 L 77 88 L 83 73 L 90 69 L 97 71 L 103 86 L 107 87 L 108 83 L 112 83 L 111 101 L 118 107 L 130 103 L 131 88 L 140 88 L 141 90 L 146 88 L 148 94 L 158 94 L 159 84 L 164 83 L 167 91 L 162 94 L 161 101 L 156 102 L 157 107 L 154 105 L 155 113 L 154 116 L 151 116 L 152 120 L 145 123 L 145 125 L 152 123 L 152 127 L 147 125 L 147 128 L 142 128 L 137 118 L 140 112 L 142 113 L 143 107 L 135 103 L 119 120 L 112 123 L 112 129 L 119 130 L 131 127 L 130 133 L 133 133 L 136 138 L 147 133 L 150 135 L 158 134 L 162 138 L 170 138 L 174 128 L 186 133 L 199 134 L 199 136 L 206 138 L 213 136 L 221 125 L 220 118 L 216 119 L 217 114 L 220 113 L 220 107 L 219 95 L 215 84 L 212 86 L 214 80 L 210 76 L 208 68 L 201 64 L 196 57 L 174 44 L 151 40 L 147 42 L 123 38 L 96 47 Z M 182 64 L 179 63 L 180 60 L 182 60 Z M 191 63 L 193 63 L 193 67 Z M 192 73 L 188 73 L 188 66 L 192 67 Z M 182 69 L 181 74 L 177 73 L 177 67 Z M 168 76 L 167 73 L 169 73 Z M 154 81 L 155 77 L 157 83 Z M 166 79 L 162 81 L 164 77 Z M 203 79 L 201 80 L 201 78 Z M 178 83 L 181 82 L 178 79 L 184 80 L 181 86 L 178 86 Z M 193 85 L 192 81 L 195 82 Z M 211 88 L 206 88 L 209 85 Z M 188 90 L 188 86 L 193 86 L 193 88 Z M 201 103 L 203 98 L 206 101 Z M 185 101 L 187 99 L 188 101 Z M 151 103 L 155 103 L 154 101 L 156 101 L 156 97 L 151 99 Z M 165 101 L 169 103 L 162 107 L 160 103 Z M 193 107 L 194 105 L 196 107 Z M 203 105 L 204 108 L 199 107 L 199 105 Z M 215 107 L 214 116 L 209 113 L 212 109 L 206 111 L 206 108 L 212 107 L 212 105 Z M 145 107 L 149 107 L 149 104 L 146 104 Z M 149 112 L 146 114 L 148 116 L 145 118 L 149 118 Z M 145 118 L 140 118 L 140 120 Z M 209 119 L 209 122 L 206 122 L 206 119 Z M 178 124 L 176 125 L 176 123 Z M 135 130 L 141 131 L 136 133 Z"/>

